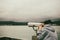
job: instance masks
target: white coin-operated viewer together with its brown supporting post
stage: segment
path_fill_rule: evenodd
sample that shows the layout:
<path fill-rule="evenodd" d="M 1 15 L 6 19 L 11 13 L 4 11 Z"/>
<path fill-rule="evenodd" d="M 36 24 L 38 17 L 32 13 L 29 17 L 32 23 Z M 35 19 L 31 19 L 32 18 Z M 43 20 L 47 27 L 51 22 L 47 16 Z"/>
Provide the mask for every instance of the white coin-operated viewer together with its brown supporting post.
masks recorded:
<path fill-rule="evenodd" d="M 32 36 L 32 40 L 37 40 L 37 29 L 39 25 L 41 25 L 41 23 L 28 22 L 28 27 L 32 27 L 36 33 L 36 35 Z"/>

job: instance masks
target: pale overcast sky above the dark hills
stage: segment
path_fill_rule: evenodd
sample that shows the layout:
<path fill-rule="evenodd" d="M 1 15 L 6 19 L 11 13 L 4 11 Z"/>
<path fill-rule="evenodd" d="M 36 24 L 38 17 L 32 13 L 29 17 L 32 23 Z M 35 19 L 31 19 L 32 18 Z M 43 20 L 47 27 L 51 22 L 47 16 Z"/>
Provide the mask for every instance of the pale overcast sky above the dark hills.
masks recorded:
<path fill-rule="evenodd" d="M 60 18 L 60 0 L 0 0 L 0 20 L 42 21 Z"/>

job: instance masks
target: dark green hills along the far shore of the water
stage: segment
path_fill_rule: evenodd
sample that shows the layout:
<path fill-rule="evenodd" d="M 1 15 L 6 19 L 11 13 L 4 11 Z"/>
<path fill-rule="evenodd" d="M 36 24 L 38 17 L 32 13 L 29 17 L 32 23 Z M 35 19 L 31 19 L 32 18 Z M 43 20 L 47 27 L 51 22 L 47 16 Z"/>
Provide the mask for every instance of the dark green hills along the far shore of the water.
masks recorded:
<path fill-rule="evenodd" d="M 45 20 L 43 22 L 48 23 L 49 20 Z M 27 25 L 27 24 L 28 22 L 0 21 L 0 25 Z M 51 24 L 60 25 L 60 19 L 53 19 Z"/>

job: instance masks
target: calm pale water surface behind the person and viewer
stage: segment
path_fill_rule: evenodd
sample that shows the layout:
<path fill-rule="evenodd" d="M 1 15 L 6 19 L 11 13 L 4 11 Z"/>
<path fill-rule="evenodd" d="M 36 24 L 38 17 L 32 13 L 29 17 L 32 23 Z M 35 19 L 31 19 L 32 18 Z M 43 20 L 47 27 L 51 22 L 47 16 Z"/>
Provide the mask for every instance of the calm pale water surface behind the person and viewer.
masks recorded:
<path fill-rule="evenodd" d="M 55 28 L 60 40 L 60 26 L 52 26 Z M 0 37 L 12 37 L 22 40 L 32 40 L 35 32 L 28 26 L 0 26 Z"/>

